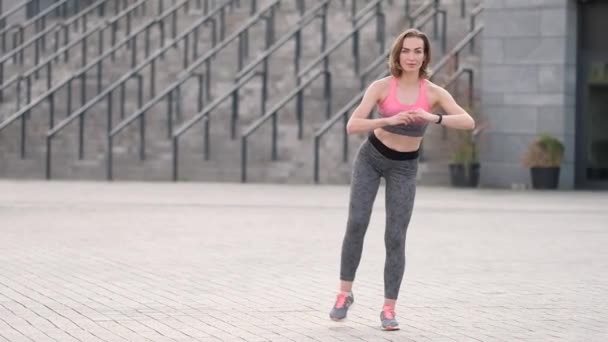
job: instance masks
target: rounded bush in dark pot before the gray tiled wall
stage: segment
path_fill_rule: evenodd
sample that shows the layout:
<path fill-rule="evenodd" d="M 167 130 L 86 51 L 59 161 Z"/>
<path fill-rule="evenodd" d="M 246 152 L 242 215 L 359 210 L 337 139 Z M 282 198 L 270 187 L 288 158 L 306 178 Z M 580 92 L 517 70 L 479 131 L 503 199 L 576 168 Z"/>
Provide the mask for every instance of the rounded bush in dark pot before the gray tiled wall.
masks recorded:
<path fill-rule="evenodd" d="M 564 145 L 557 138 L 542 134 L 529 146 L 523 164 L 530 169 L 533 189 L 556 189 L 564 158 Z"/>

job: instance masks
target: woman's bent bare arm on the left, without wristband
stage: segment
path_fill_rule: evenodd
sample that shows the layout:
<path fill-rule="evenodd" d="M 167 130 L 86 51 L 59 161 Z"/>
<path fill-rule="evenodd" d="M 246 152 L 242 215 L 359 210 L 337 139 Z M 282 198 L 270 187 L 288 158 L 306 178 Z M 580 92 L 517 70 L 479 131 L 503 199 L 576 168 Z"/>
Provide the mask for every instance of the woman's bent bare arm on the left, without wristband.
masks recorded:
<path fill-rule="evenodd" d="M 388 125 L 407 124 L 415 120 L 415 116 L 409 113 L 399 113 L 388 118 L 369 118 L 376 102 L 381 98 L 382 84 L 380 82 L 374 81 L 365 91 L 361 103 L 346 124 L 348 134 L 368 132 Z"/>

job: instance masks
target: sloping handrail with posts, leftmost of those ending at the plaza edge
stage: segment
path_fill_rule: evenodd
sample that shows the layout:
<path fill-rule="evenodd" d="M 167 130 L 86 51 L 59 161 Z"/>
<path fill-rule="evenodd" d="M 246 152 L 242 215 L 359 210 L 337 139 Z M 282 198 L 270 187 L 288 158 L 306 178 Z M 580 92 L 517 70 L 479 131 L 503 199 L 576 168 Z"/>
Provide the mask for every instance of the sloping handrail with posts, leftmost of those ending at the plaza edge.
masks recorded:
<path fill-rule="evenodd" d="M 217 13 L 220 13 L 220 20 L 222 20 L 223 23 L 223 17 L 224 17 L 224 13 L 226 8 L 228 7 L 228 5 L 233 5 L 235 2 L 235 0 L 224 0 L 221 5 L 219 5 L 218 7 L 214 8 L 208 15 L 198 19 L 194 24 L 190 25 L 189 28 L 187 28 L 186 30 L 184 30 L 179 36 L 177 36 L 175 39 L 173 39 L 167 46 L 163 47 L 162 49 L 157 50 L 152 56 L 148 57 L 145 61 L 141 62 L 139 65 L 137 65 L 136 67 L 132 68 L 127 74 L 123 75 L 120 79 L 118 79 L 117 81 L 115 81 L 114 83 L 112 83 L 110 86 L 106 87 L 102 92 L 100 92 L 97 96 L 95 96 L 93 99 L 91 99 L 90 101 L 88 101 L 86 104 L 84 104 L 82 107 L 80 107 L 78 110 L 76 110 L 74 113 L 72 113 L 69 117 L 65 118 L 64 120 L 62 120 L 59 124 L 57 124 L 54 127 L 51 127 L 47 134 L 47 150 L 46 150 L 46 177 L 50 178 L 51 177 L 51 140 L 52 138 L 57 135 L 57 133 L 59 133 L 63 128 L 65 128 L 69 123 L 71 123 L 72 121 L 74 121 L 75 119 L 80 119 L 81 121 L 81 126 L 80 131 L 79 131 L 79 136 L 80 136 L 80 144 L 79 144 L 79 148 L 80 148 L 80 157 L 82 157 L 82 135 L 83 135 L 83 127 L 82 127 L 82 120 L 84 118 L 84 115 L 87 113 L 88 110 L 90 110 L 93 106 L 95 106 L 97 103 L 101 102 L 104 98 L 107 98 L 108 101 L 110 101 L 111 103 L 111 98 L 112 98 L 112 92 L 116 89 L 118 89 L 121 86 L 124 86 L 124 84 L 129 81 L 130 79 L 132 79 L 133 77 L 136 77 L 136 75 L 139 74 L 139 72 L 145 68 L 146 66 L 150 65 L 150 67 L 152 68 L 152 83 L 151 85 L 153 85 L 154 82 L 154 70 L 156 68 L 156 60 L 159 57 L 164 56 L 164 54 L 167 52 L 167 50 L 173 46 L 176 46 L 178 42 L 180 41 L 184 41 L 185 42 L 185 47 L 186 47 L 186 51 L 187 51 L 187 47 L 188 47 L 188 41 L 189 41 L 189 37 L 191 34 L 194 34 L 195 36 L 198 36 L 198 30 L 200 28 L 201 25 L 203 25 L 204 23 L 208 22 L 208 21 L 212 21 L 213 23 L 215 23 L 215 19 L 214 19 L 214 15 Z M 215 27 L 215 26 L 214 26 Z M 215 32 L 215 30 L 214 30 Z M 195 40 L 195 44 L 196 44 L 196 40 Z M 133 47 L 133 49 L 135 49 L 135 47 Z M 196 53 L 196 51 L 195 51 Z M 187 62 L 187 56 L 188 53 L 186 52 L 184 54 L 185 56 L 185 62 Z M 190 67 L 188 65 L 184 66 L 185 68 L 188 68 L 188 71 L 192 71 L 192 65 L 190 65 Z M 155 96 L 155 91 L 151 91 L 152 92 L 152 96 Z M 20 112 L 20 115 L 23 115 L 24 111 Z M 108 134 L 111 131 L 111 106 L 108 106 Z M 0 129 L 2 128 L 2 126 L 0 125 Z"/>

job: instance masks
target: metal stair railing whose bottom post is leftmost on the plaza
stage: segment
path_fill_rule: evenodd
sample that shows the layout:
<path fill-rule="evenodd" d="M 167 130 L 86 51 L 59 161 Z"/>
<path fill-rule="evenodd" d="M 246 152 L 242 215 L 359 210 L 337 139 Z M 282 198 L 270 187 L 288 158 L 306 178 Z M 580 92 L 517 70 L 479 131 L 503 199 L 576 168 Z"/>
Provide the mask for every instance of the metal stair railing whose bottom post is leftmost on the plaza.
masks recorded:
<path fill-rule="evenodd" d="M 192 54 L 193 54 L 193 59 L 196 59 L 198 57 L 198 36 L 199 36 L 199 32 L 200 32 L 200 27 L 204 24 L 206 24 L 207 22 L 211 22 L 213 24 L 213 32 L 215 33 L 216 30 L 216 26 L 215 26 L 215 15 L 217 14 L 219 16 L 219 21 L 220 21 L 220 37 L 222 35 L 222 31 L 225 32 L 225 11 L 227 10 L 227 8 L 229 6 L 234 6 L 234 4 L 237 3 L 236 0 L 225 0 L 223 2 L 221 2 L 221 4 L 214 8 L 208 15 L 198 19 L 194 24 L 192 24 L 189 28 L 187 28 L 186 30 L 184 30 L 179 36 L 177 36 L 175 39 L 173 39 L 167 46 L 163 47 L 162 49 L 157 50 L 153 55 L 151 55 L 149 58 L 147 58 L 144 62 L 140 63 L 138 66 L 132 68 L 127 74 L 123 75 L 120 79 L 118 79 L 117 81 L 115 81 L 114 83 L 112 83 L 110 86 L 106 87 L 102 92 L 100 92 L 97 96 L 95 96 L 93 99 L 91 99 L 90 101 L 88 101 L 86 104 L 84 104 L 82 107 L 80 107 L 78 110 L 74 111 L 69 117 L 65 118 L 64 120 L 62 120 L 61 122 L 59 122 L 56 126 L 52 126 L 50 127 L 49 131 L 46 134 L 46 177 L 47 179 L 51 178 L 51 159 L 52 159 L 52 149 L 51 149 L 51 143 L 52 143 L 52 139 L 59 133 L 61 132 L 65 127 L 67 127 L 71 122 L 73 122 L 74 120 L 78 119 L 79 121 L 79 143 L 78 143 L 78 148 L 79 148 L 79 158 L 82 159 L 84 158 L 84 140 L 83 140 L 83 131 L 84 131 L 84 117 L 87 113 L 91 112 L 93 107 L 95 107 L 98 103 L 101 103 L 104 99 L 107 100 L 107 118 L 108 118 L 108 130 L 107 133 L 108 135 L 110 134 L 110 131 L 112 130 L 112 97 L 113 97 L 113 92 L 117 89 L 121 89 L 123 87 L 125 87 L 126 83 L 133 79 L 133 78 L 138 78 L 138 75 L 141 75 L 141 71 L 145 68 L 145 67 L 150 67 L 150 93 L 151 93 L 151 97 L 155 97 L 156 96 L 156 90 L 154 88 L 154 84 L 155 84 L 155 79 L 156 79 L 156 64 L 157 64 L 157 60 L 159 58 L 161 58 L 161 56 L 163 56 L 165 53 L 167 53 L 168 49 L 177 46 L 177 44 L 179 42 L 183 42 L 184 48 L 185 48 L 185 53 L 183 54 L 184 56 L 184 68 L 188 68 L 188 66 L 190 65 L 189 63 L 189 46 L 190 46 L 190 41 L 192 41 L 192 44 L 194 45 Z M 251 3 L 252 4 L 252 3 Z M 134 49 L 136 49 L 136 47 L 133 47 Z M 188 69 L 190 70 L 190 69 Z M 141 85 L 143 86 L 143 82 L 140 82 Z M 139 83 L 138 83 L 139 85 Z M 142 94 L 143 92 L 141 90 L 138 90 L 138 94 Z M 143 104 L 143 101 L 141 101 L 140 99 L 138 99 L 138 104 Z M 19 113 L 17 113 L 17 115 L 23 115 L 24 110 L 20 111 Z M 51 110 L 51 113 L 53 113 L 53 110 Z M 52 114 L 51 114 L 52 115 Z M 13 116 L 12 118 L 14 118 L 15 116 Z M 52 120 L 51 120 L 52 121 Z M 2 125 L 0 125 L 0 129 L 2 129 Z"/>

